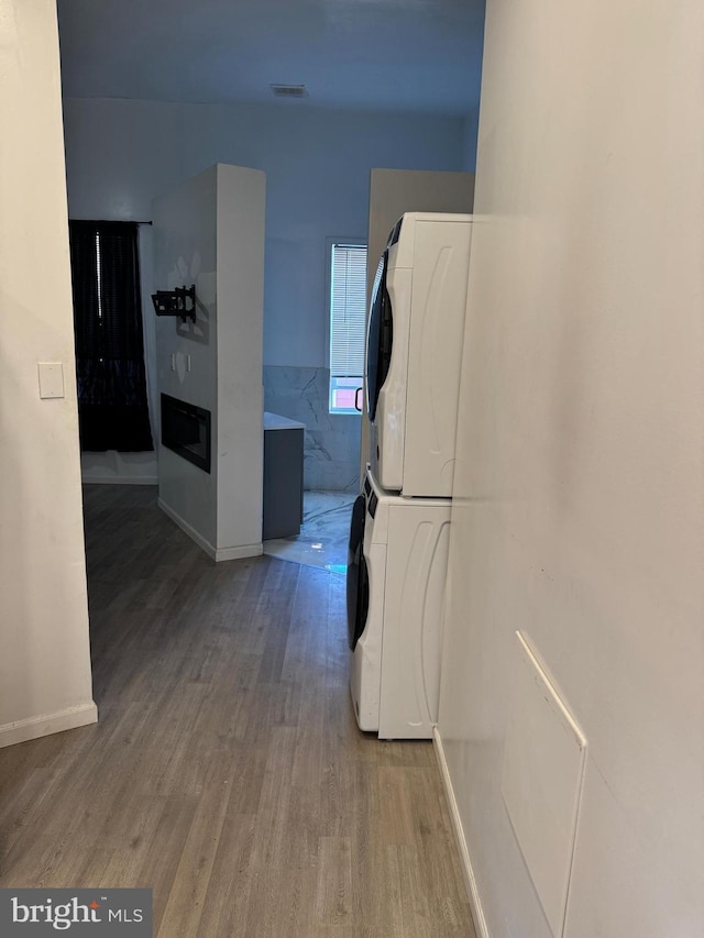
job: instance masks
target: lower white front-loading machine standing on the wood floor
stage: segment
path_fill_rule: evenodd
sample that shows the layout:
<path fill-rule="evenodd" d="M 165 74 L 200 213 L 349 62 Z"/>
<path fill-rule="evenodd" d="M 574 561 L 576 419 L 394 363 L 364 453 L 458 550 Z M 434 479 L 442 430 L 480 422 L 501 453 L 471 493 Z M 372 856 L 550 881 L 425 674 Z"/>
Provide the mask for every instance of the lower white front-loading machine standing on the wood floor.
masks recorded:
<path fill-rule="evenodd" d="M 450 500 L 381 489 L 367 467 L 350 532 L 350 689 L 360 729 L 429 739 L 438 717 Z"/>

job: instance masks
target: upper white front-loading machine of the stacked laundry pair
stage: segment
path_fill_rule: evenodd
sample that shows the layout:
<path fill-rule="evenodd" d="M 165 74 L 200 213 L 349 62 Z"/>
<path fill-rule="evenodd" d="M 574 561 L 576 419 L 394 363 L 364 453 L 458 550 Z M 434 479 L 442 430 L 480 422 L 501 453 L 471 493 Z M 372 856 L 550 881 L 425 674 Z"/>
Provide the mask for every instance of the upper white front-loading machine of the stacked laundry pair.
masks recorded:
<path fill-rule="evenodd" d="M 387 492 L 452 494 L 473 216 L 406 212 L 372 291 L 370 462 Z"/>

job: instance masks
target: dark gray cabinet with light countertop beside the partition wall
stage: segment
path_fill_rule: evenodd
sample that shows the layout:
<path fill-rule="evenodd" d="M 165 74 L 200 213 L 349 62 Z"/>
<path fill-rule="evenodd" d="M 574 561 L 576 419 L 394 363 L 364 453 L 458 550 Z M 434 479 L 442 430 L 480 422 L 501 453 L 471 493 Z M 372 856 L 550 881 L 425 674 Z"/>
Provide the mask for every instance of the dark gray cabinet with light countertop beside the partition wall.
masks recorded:
<path fill-rule="evenodd" d="M 262 539 L 292 538 L 304 519 L 304 423 L 264 411 Z"/>

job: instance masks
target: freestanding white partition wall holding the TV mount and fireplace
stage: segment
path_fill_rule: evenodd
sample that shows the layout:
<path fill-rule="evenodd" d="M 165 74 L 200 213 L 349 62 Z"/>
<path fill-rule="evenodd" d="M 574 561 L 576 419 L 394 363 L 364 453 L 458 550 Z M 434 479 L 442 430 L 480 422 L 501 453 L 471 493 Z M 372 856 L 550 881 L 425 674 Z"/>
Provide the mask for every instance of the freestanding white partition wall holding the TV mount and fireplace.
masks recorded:
<path fill-rule="evenodd" d="M 206 472 L 160 445 L 160 505 L 216 560 L 262 552 L 265 176 L 218 164 L 153 203 L 154 286 L 196 287 L 157 320 L 164 393 L 210 413 Z"/>

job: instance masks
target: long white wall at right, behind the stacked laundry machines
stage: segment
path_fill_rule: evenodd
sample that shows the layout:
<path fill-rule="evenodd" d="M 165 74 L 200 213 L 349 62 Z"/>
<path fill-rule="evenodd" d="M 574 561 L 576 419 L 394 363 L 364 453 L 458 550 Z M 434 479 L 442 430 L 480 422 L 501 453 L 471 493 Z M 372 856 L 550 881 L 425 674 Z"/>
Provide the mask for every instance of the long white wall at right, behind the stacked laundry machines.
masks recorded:
<path fill-rule="evenodd" d="M 700 0 L 488 2 L 439 730 L 492 938 L 551 934 L 517 629 L 587 739 L 565 938 L 704 934 L 703 60 Z"/>

